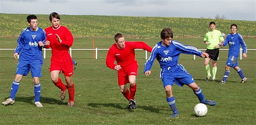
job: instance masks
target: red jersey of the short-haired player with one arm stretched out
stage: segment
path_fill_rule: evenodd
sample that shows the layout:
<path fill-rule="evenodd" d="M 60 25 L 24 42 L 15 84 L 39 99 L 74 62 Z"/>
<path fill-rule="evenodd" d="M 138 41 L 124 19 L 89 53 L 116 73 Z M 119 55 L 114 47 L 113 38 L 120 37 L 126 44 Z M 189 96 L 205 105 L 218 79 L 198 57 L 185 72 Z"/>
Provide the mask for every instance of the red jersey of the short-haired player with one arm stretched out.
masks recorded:
<path fill-rule="evenodd" d="M 115 61 L 121 67 L 126 65 L 137 63 L 135 60 L 135 50 L 134 49 L 143 49 L 148 52 L 152 51 L 152 47 L 148 46 L 144 42 L 125 42 L 125 48 L 119 49 L 114 43 L 108 50 L 106 55 L 106 66 L 111 69 L 115 69 Z"/>

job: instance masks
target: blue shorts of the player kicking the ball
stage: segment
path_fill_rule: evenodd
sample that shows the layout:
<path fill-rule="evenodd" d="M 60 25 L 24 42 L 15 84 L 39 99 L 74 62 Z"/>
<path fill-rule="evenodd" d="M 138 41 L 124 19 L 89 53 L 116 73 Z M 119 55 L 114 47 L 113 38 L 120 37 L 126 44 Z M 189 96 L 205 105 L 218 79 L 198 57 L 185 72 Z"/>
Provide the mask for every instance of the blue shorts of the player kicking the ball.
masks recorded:
<path fill-rule="evenodd" d="M 183 65 L 161 69 L 160 78 L 162 79 L 163 87 L 167 85 L 173 86 L 174 83 L 182 87 L 184 84 L 195 82 L 190 73 L 184 69 Z"/>

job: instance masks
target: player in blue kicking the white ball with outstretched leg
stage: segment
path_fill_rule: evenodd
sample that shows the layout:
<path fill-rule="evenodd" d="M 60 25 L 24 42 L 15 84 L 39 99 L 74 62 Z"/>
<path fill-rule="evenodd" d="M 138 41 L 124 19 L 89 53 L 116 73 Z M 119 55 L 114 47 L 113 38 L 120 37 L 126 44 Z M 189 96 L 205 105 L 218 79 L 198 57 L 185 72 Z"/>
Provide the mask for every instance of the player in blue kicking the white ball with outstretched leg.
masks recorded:
<path fill-rule="evenodd" d="M 172 109 L 173 114 L 170 117 L 175 117 L 178 115 L 176 108 L 175 98 L 172 94 L 172 86 L 176 83 L 178 86 L 182 87 L 184 84 L 189 86 L 194 94 L 197 95 L 198 100 L 207 105 L 214 106 L 216 102 L 211 100 L 205 100 L 202 90 L 194 82 L 194 79 L 189 72 L 184 69 L 183 65 L 178 64 L 178 59 L 180 53 L 184 54 L 195 54 L 200 57 L 209 57 L 207 53 L 203 53 L 193 46 L 183 45 L 180 42 L 173 41 L 173 32 L 170 28 L 164 28 L 161 31 L 162 41 L 158 42 L 152 49 L 151 56 L 145 63 L 144 73 L 146 76 L 151 74 L 151 67 L 154 63 L 155 58 L 157 58 L 161 71 L 160 78 L 163 82 L 163 87 L 165 88 L 166 101 L 168 102 L 170 109 Z"/>

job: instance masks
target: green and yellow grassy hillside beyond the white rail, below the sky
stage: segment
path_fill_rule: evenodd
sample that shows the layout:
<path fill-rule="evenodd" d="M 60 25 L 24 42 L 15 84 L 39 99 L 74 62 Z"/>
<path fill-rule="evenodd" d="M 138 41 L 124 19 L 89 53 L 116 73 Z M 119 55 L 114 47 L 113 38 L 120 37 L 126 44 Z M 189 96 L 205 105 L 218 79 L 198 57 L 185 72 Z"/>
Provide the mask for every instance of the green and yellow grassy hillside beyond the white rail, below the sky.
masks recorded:
<path fill-rule="evenodd" d="M 0 13 L 0 38 L 17 38 L 27 25 L 28 14 Z M 38 26 L 51 26 L 49 14 L 36 14 Z M 209 31 L 209 22 L 215 21 L 216 29 L 230 33 L 230 25 L 235 23 L 244 38 L 255 38 L 256 21 L 195 19 L 177 17 L 129 17 L 95 15 L 61 15 L 61 25 L 65 25 L 74 38 L 113 38 L 121 32 L 126 38 L 159 38 L 161 30 L 170 27 L 176 38 L 202 38 Z"/>

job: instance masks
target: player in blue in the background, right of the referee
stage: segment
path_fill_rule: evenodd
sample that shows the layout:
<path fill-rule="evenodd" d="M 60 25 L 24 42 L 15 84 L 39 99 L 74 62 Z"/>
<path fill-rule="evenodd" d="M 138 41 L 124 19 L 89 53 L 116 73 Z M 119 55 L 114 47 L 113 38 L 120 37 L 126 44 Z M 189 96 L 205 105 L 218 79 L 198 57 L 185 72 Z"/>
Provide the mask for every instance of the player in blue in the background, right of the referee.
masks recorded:
<path fill-rule="evenodd" d="M 241 77 L 241 83 L 247 82 L 246 76 L 244 76 L 244 73 L 242 69 L 238 67 L 237 59 L 239 57 L 240 52 L 240 45 L 243 47 L 243 57 L 247 57 L 247 47 L 246 43 L 244 43 L 244 40 L 240 34 L 238 34 L 237 31 L 237 25 L 232 24 L 230 26 L 231 33 L 226 36 L 225 41 L 223 42 L 223 46 L 229 45 L 229 55 L 227 57 L 227 62 L 225 65 L 225 73 L 223 75 L 223 78 L 220 83 L 226 83 L 227 77 L 229 76 L 229 68 L 232 67 L 234 70 L 237 71 L 239 76 Z"/>

